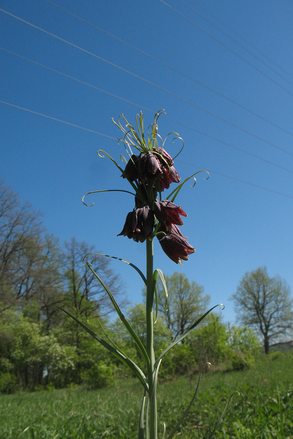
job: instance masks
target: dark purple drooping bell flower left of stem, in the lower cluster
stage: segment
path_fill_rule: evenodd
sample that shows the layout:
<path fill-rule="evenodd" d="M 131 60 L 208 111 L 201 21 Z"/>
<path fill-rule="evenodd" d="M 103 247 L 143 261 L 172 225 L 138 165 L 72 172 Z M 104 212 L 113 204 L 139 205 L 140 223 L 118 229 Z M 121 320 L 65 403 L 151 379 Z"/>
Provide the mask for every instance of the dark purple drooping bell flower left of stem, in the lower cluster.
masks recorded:
<path fill-rule="evenodd" d="M 144 242 L 153 238 L 153 230 L 154 212 L 145 206 L 128 213 L 123 230 L 117 236 L 124 235 L 136 242 Z"/>

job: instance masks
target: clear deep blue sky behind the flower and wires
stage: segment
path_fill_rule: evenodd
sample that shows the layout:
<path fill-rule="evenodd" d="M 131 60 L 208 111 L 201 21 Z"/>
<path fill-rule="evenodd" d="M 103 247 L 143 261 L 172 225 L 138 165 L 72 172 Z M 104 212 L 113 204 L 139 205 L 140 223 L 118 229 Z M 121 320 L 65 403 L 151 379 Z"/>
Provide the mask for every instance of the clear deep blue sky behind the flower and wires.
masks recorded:
<path fill-rule="evenodd" d="M 142 110 L 148 126 L 164 108 L 159 134 L 184 140 L 179 175 L 207 169 L 210 178 L 199 174 L 176 198 L 196 252 L 181 267 L 155 242 L 155 268 L 204 285 L 230 322 L 228 298 L 246 271 L 266 265 L 293 287 L 292 2 L 1 0 L 0 8 L 0 175 L 43 212 L 50 233 L 144 270 L 144 245 L 116 236 L 131 196 L 91 195 L 91 208 L 81 198 L 129 190 L 97 155 L 124 153 L 111 118 L 134 124 Z M 179 144 L 165 149 L 174 156 Z M 130 301 L 141 301 L 136 272 L 112 267 Z"/>

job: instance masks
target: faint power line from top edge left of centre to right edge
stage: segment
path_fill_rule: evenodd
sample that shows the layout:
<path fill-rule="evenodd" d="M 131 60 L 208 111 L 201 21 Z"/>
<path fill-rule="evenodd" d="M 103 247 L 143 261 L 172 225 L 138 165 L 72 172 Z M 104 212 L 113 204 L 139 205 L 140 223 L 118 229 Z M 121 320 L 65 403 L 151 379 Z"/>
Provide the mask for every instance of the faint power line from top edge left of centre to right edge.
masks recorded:
<path fill-rule="evenodd" d="M 132 44 L 127 43 L 127 41 L 121 40 L 121 38 L 118 38 L 117 36 L 111 34 L 110 32 L 106 32 L 104 29 L 101 29 L 100 27 L 94 25 L 93 23 L 88 22 L 87 20 L 84 20 L 84 18 L 81 18 L 81 17 L 79 17 L 78 15 L 73 14 L 73 13 L 70 12 L 70 11 L 67 11 L 67 9 L 64 9 L 64 8 L 61 7 L 61 6 L 58 6 L 57 4 L 52 3 L 52 2 L 49 1 L 49 0 L 44 0 L 44 1 L 46 1 L 47 3 L 49 3 L 49 4 L 51 4 L 51 5 L 55 6 L 55 7 L 57 7 L 57 8 L 60 9 L 61 11 L 64 11 L 64 12 L 66 12 L 67 14 L 72 15 L 73 17 L 77 18 L 78 20 L 81 20 L 82 22 L 84 22 L 84 23 L 86 23 L 86 24 L 92 26 L 93 28 L 98 29 L 100 32 L 105 33 L 106 35 L 108 35 L 108 36 L 114 38 L 115 40 L 120 41 L 120 42 L 123 43 L 123 44 L 126 44 L 128 47 L 131 47 L 132 49 L 137 50 L 138 52 L 140 52 L 140 53 L 146 55 L 147 57 L 149 57 L 149 58 L 151 58 L 151 59 L 154 59 L 155 61 L 159 62 L 160 64 L 165 65 L 166 67 L 170 68 L 170 69 L 173 70 L 174 72 L 179 73 L 180 75 L 184 76 L 184 77 L 187 78 L 187 79 L 190 79 L 190 80 L 193 81 L 194 83 L 200 85 L 201 87 L 204 87 L 206 90 L 212 91 L 212 93 L 215 93 L 215 94 L 217 94 L 217 95 L 220 96 L 220 97 L 223 97 L 224 99 L 226 99 L 227 101 L 231 102 L 232 104 L 237 105 L 239 108 L 243 108 L 244 110 L 248 111 L 249 113 L 253 114 L 254 116 L 257 116 L 257 117 L 259 117 L 260 119 L 264 120 L 264 122 L 267 122 L 267 123 L 271 124 L 272 126 L 275 126 L 275 128 L 278 128 L 279 130 L 282 130 L 284 133 L 287 133 L 287 134 L 289 134 L 290 136 L 293 136 L 293 133 L 291 133 L 290 131 L 285 130 L 284 128 L 282 128 L 281 126 L 275 124 L 274 122 L 271 122 L 270 120 L 268 120 L 268 119 L 264 118 L 263 116 L 261 116 L 261 115 L 255 113 L 254 111 L 249 110 L 249 108 L 246 108 L 244 105 L 241 105 L 241 104 L 239 104 L 239 103 L 236 102 L 236 101 L 233 101 L 233 99 L 231 99 L 230 97 L 227 97 L 227 96 L 225 96 L 225 95 L 219 93 L 218 91 L 212 89 L 211 87 L 209 87 L 209 86 L 207 86 L 207 85 L 205 85 L 205 84 L 199 82 L 198 80 L 192 78 L 191 76 L 188 76 L 186 73 L 181 72 L 181 71 L 178 70 L 177 68 L 172 67 L 171 65 L 165 63 L 164 61 L 161 61 L 160 59 L 155 58 L 153 55 L 150 55 L 150 54 L 148 54 L 147 52 L 144 52 L 143 50 L 139 49 L 138 47 L 133 46 Z M 182 1 L 182 0 L 180 0 L 180 1 Z M 183 2 L 183 3 L 184 3 L 184 2 Z M 204 18 L 204 17 L 203 17 L 203 18 Z M 218 29 L 218 28 L 217 28 L 217 29 Z M 245 50 L 246 50 L 246 49 L 245 49 Z M 260 60 L 260 61 L 261 61 L 261 60 Z"/>

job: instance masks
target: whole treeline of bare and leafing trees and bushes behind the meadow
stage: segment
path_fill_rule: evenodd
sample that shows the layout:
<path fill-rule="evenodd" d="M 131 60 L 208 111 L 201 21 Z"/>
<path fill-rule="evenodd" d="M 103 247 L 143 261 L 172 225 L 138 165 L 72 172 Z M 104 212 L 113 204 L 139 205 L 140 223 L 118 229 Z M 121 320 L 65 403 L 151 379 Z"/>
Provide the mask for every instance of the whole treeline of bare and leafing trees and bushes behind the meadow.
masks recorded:
<path fill-rule="evenodd" d="M 121 321 L 110 320 L 112 308 L 106 292 L 83 265 L 84 255 L 95 252 L 94 247 L 75 238 L 59 245 L 57 238 L 44 233 L 40 214 L 28 203 L 21 204 L 13 191 L 0 184 L 0 392 L 74 384 L 99 388 L 114 378 L 128 376 L 124 365 L 60 308 L 99 335 L 106 337 L 106 331 L 144 368 L 140 352 Z M 91 255 L 90 260 L 95 272 L 125 307 L 123 284 L 110 269 L 109 261 L 100 255 Z M 156 355 L 183 334 L 209 303 L 203 288 L 190 283 L 181 273 L 167 276 L 166 284 L 166 311 L 163 289 L 157 285 Z M 143 343 L 144 313 L 142 304 L 127 312 Z M 222 363 L 227 369 L 241 369 L 251 364 L 251 353 L 258 345 L 252 330 L 227 328 L 215 314 L 209 315 L 185 340 L 164 357 L 160 370 L 165 377 L 192 373 L 207 361 L 213 365 Z"/>

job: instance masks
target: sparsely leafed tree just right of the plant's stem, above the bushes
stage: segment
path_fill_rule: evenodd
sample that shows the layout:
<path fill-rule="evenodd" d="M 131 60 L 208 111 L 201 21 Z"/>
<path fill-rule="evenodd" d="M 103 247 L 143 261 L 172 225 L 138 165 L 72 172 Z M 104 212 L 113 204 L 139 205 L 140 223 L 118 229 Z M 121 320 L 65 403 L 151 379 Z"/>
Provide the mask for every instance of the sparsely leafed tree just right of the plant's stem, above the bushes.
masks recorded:
<path fill-rule="evenodd" d="M 172 331 L 172 339 L 183 332 L 200 317 L 209 303 L 209 295 L 196 282 L 188 280 L 184 273 L 175 272 L 165 276 L 168 290 L 168 306 L 165 311 L 165 291 L 161 281 L 157 281 L 158 312 Z"/>

